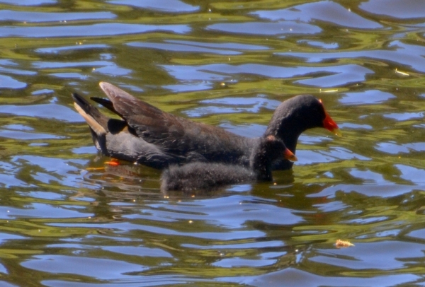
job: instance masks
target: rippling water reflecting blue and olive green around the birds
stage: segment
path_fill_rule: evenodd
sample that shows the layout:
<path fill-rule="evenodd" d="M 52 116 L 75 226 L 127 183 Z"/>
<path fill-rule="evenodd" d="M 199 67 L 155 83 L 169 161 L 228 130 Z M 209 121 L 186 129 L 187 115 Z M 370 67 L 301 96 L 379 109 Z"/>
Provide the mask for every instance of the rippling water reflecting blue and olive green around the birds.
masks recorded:
<path fill-rule="evenodd" d="M 425 1 L 0 8 L 1 286 L 425 284 Z M 311 93 L 344 136 L 302 134 L 276 185 L 162 194 L 96 153 L 70 93 L 99 81 L 246 136 Z"/>

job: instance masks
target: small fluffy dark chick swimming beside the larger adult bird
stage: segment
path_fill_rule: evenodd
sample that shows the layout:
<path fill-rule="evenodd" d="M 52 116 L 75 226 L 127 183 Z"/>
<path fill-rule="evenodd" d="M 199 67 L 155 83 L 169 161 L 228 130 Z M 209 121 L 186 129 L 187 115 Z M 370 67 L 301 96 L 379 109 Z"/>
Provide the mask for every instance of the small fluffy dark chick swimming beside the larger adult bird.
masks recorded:
<path fill-rule="evenodd" d="M 271 181 L 271 165 L 276 158 L 295 161 L 295 155 L 275 136 L 259 139 L 249 159 L 249 168 L 227 163 L 188 163 L 170 165 L 162 172 L 161 190 L 215 189 L 222 185 L 235 185 L 245 182 Z"/>

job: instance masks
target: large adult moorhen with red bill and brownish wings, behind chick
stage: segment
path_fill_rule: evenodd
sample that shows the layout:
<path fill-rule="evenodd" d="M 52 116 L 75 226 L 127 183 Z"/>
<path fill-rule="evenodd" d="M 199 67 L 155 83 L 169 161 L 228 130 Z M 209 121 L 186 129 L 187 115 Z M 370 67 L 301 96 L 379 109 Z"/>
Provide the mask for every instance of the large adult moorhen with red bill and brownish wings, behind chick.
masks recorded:
<path fill-rule="evenodd" d="M 249 156 L 261 141 L 163 112 L 111 83 L 99 85 L 109 100 L 91 99 L 122 119 L 106 117 L 77 93 L 72 96 L 74 107 L 89 124 L 96 148 L 106 156 L 160 169 L 191 162 L 248 166 Z M 339 131 L 320 100 L 297 95 L 277 107 L 263 137 L 276 136 L 295 153 L 298 136 L 314 127 Z M 287 170 L 292 165 L 287 159 L 278 159 L 272 168 Z"/>

